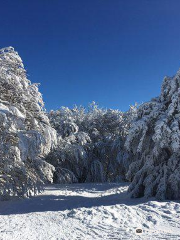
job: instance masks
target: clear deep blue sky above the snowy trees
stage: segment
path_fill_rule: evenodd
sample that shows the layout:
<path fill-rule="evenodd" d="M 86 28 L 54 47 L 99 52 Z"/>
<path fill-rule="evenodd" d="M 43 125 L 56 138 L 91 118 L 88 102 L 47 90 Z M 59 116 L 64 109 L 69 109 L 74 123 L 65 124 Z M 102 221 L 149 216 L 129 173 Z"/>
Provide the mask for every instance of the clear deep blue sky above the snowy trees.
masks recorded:
<path fill-rule="evenodd" d="M 180 67 L 179 0 L 1 0 L 0 47 L 13 46 L 47 110 L 127 110 Z"/>

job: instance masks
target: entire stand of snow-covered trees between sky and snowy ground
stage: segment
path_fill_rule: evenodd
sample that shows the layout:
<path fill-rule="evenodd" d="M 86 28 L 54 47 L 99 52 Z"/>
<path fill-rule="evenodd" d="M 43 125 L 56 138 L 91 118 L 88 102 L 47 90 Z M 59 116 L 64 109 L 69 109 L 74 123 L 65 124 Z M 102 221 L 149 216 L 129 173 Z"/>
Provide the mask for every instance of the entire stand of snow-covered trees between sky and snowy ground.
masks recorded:
<path fill-rule="evenodd" d="M 13 47 L 0 50 L 0 200 L 46 183 L 130 182 L 131 197 L 180 199 L 180 71 L 127 112 L 96 102 L 47 112 Z"/>

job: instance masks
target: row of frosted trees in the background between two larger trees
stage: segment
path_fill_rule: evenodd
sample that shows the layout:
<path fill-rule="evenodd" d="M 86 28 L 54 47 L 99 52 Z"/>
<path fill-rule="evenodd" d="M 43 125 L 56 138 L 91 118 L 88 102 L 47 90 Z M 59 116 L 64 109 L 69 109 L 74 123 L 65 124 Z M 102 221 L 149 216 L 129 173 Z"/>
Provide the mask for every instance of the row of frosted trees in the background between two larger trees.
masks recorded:
<path fill-rule="evenodd" d="M 57 130 L 58 145 L 47 161 L 57 169 L 55 182 L 122 179 L 127 170 L 124 141 L 135 114 L 136 107 L 122 113 L 98 108 L 94 102 L 87 110 L 63 107 L 51 111 L 49 119 Z"/>

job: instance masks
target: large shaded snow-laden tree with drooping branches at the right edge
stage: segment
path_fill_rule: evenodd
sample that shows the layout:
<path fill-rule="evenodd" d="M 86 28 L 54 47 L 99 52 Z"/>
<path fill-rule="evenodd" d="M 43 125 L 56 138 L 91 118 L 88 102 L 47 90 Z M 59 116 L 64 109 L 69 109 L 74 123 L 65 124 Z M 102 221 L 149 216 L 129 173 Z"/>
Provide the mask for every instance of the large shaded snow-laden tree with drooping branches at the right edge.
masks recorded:
<path fill-rule="evenodd" d="M 142 104 L 126 141 L 133 197 L 180 199 L 180 71 L 158 98 Z"/>

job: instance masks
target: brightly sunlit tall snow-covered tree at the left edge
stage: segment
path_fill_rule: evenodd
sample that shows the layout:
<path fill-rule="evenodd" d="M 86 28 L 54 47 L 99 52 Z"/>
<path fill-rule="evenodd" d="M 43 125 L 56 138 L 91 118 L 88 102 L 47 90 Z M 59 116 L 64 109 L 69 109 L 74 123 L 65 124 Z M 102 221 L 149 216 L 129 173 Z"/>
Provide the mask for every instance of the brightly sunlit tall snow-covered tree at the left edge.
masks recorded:
<path fill-rule="evenodd" d="M 56 144 L 37 84 L 27 79 L 12 47 L 0 50 L 0 199 L 29 196 L 52 181 L 42 160 Z"/>

